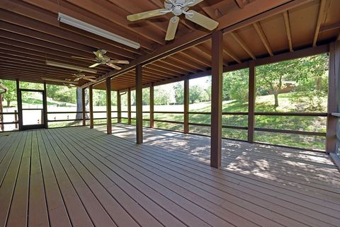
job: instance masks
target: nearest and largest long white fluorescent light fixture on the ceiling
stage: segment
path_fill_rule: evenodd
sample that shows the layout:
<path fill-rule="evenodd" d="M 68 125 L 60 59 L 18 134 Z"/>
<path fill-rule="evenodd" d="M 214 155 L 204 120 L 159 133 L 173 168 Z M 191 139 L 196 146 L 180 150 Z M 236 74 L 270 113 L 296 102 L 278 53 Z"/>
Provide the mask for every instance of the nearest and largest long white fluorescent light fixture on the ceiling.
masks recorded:
<path fill-rule="evenodd" d="M 140 49 L 140 44 L 138 42 L 133 42 L 132 40 L 128 40 L 125 37 L 115 35 L 113 33 L 108 32 L 107 30 L 103 30 L 94 25 L 90 25 L 89 23 L 85 23 L 84 21 L 79 21 L 78 19 L 72 18 L 71 16 L 67 16 L 64 13 L 58 13 L 58 21 L 60 21 L 61 23 L 66 23 L 68 25 L 74 26 L 76 28 L 80 28 L 82 30 L 86 30 L 89 33 L 94 33 L 96 35 L 106 37 L 109 40 L 119 42 L 128 47 Z"/>

